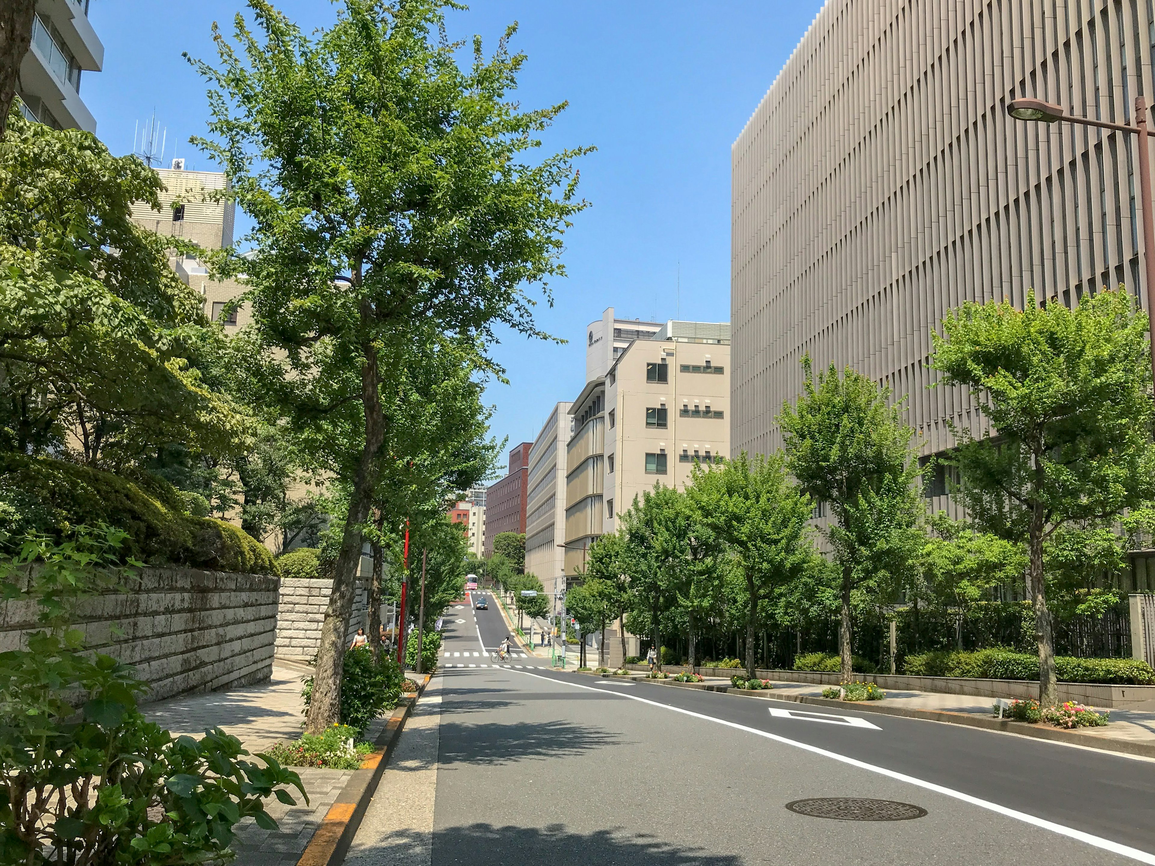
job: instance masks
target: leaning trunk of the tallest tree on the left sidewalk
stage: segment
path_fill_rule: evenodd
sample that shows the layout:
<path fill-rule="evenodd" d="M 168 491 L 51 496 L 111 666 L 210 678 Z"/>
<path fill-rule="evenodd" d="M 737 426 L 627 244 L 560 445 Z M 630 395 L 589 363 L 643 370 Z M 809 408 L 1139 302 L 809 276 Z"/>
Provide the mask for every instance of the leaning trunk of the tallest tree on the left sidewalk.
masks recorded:
<path fill-rule="evenodd" d="M 362 304 L 362 321 L 372 315 L 366 303 Z M 313 669 L 313 696 L 305 718 L 305 732 L 321 734 L 325 729 L 341 721 L 341 673 L 344 667 L 345 632 L 353 606 L 353 589 L 362 557 L 362 523 L 368 516 L 378 478 L 378 451 L 385 442 L 385 415 L 381 411 L 380 378 L 377 349 L 363 345 L 365 364 L 362 366 L 362 402 L 365 406 L 365 445 L 357 461 L 352 495 L 349 498 L 349 517 L 341 539 L 341 552 L 333 569 L 333 591 L 321 626 L 321 643 Z"/>

